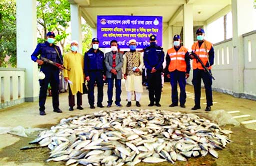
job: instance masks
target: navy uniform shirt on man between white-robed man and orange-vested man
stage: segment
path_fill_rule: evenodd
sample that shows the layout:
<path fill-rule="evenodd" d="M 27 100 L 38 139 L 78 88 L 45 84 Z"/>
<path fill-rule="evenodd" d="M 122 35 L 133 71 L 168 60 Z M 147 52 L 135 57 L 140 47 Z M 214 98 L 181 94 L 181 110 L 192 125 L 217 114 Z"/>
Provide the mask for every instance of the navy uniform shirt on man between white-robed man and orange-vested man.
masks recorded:
<path fill-rule="evenodd" d="M 163 48 L 157 45 L 151 45 L 144 49 L 143 61 L 147 70 L 152 70 L 155 67 L 156 70 L 163 70 L 165 53 Z"/>

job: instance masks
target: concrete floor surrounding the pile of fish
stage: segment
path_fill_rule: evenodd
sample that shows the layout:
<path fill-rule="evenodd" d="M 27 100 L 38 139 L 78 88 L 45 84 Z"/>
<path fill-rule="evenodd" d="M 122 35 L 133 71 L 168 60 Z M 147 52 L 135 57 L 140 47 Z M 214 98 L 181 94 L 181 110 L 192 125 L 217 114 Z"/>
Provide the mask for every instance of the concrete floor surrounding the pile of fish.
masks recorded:
<path fill-rule="evenodd" d="M 121 98 L 122 105 L 126 105 L 126 92 L 123 85 L 123 93 Z M 103 105 L 107 105 L 107 86 L 104 86 L 104 100 Z M 171 87 L 169 83 L 165 83 L 162 93 L 162 98 L 159 107 L 147 107 L 149 104 L 148 91 L 144 87 L 144 93 L 141 99 L 141 109 L 162 109 L 170 111 L 192 112 L 191 107 L 194 106 L 193 87 L 188 85 L 186 108 L 174 107 L 170 108 L 171 104 Z M 201 110 L 197 110 L 196 114 L 205 116 L 207 113 L 205 108 L 205 93 L 202 89 Z M 213 92 L 214 110 L 225 110 L 230 113 L 241 125 L 240 127 L 225 126 L 223 128 L 231 129 L 234 133 L 231 135 L 232 143 L 222 151 L 219 152 L 219 159 L 214 159 L 212 156 L 191 158 L 188 162 L 177 162 L 179 166 L 256 166 L 256 102 L 245 99 L 234 98 L 230 95 Z M 97 101 L 97 100 L 96 100 Z M 92 110 L 89 109 L 87 95 L 83 95 L 84 110 L 68 111 L 67 93 L 60 94 L 60 109 L 62 114 L 54 113 L 52 110 L 51 97 L 46 101 L 46 116 L 40 116 L 38 111 L 38 102 L 23 103 L 11 108 L 0 110 L 0 127 L 16 127 L 21 125 L 23 127 L 39 127 L 50 128 L 56 125 L 60 119 L 69 116 L 82 115 L 85 113 L 92 113 L 102 108 Z M 108 109 L 118 109 L 112 106 Z M 126 109 L 123 107 L 122 109 Z M 132 102 L 132 107 L 129 109 L 137 109 L 135 101 Z M 62 166 L 62 162 L 49 162 L 45 160 L 48 157 L 49 150 L 47 148 L 32 149 L 27 151 L 20 151 L 19 148 L 26 146 L 29 141 L 36 137 L 36 133 L 29 138 L 22 138 L 10 134 L 0 135 L 0 166 Z M 138 166 L 156 166 L 150 164 L 140 163 Z M 157 166 L 167 166 L 169 163 L 160 163 Z"/>

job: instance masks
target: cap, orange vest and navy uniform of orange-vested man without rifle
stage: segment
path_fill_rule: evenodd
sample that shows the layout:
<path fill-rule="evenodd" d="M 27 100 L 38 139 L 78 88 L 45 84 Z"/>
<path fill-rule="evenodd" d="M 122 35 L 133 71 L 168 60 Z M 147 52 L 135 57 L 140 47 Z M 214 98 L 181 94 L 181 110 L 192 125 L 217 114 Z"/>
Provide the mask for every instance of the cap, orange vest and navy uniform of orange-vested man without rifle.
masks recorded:
<path fill-rule="evenodd" d="M 180 39 L 179 35 L 175 35 L 173 40 Z M 186 102 L 186 78 L 185 74 L 189 74 L 190 59 L 188 49 L 183 46 L 172 47 L 167 51 L 166 55 L 166 73 L 170 74 L 170 83 L 172 86 L 172 104 L 170 107 L 178 106 L 177 83 L 180 86 L 180 106 L 185 107 Z"/>

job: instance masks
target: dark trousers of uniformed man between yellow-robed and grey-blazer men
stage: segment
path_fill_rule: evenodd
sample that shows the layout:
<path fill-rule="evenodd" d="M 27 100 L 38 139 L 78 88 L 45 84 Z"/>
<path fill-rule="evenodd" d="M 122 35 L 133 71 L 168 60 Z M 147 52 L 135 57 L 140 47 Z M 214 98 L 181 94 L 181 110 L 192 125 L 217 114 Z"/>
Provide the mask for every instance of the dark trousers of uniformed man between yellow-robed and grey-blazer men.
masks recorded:
<path fill-rule="evenodd" d="M 90 81 L 88 82 L 88 100 L 90 105 L 94 105 L 94 83 L 98 87 L 97 105 L 101 105 L 103 101 L 103 73 L 101 71 L 89 72 Z"/>

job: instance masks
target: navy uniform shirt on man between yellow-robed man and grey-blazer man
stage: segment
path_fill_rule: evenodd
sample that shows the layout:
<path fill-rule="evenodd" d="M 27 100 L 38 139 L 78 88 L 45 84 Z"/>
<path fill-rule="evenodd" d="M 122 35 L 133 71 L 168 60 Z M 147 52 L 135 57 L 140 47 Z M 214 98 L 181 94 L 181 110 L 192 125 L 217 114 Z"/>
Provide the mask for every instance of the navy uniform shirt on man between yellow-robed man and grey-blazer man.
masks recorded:
<path fill-rule="evenodd" d="M 105 74 L 105 57 L 104 53 L 99 49 L 94 52 L 94 49 L 91 48 L 88 52 L 84 54 L 84 73 L 86 76 L 89 76 L 91 71 L 102 71 Z"/>

